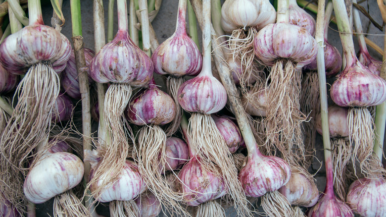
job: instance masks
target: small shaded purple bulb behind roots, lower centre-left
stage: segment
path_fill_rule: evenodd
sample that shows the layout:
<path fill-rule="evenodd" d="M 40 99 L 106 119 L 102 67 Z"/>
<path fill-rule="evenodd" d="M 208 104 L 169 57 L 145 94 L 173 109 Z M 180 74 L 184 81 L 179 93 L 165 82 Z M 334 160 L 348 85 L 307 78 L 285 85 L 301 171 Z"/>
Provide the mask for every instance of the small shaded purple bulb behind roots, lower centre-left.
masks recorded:
<path fill-rule="evenodd" d="M 189 160 L 189 149 L 188 145 L 184 140 L 177 137 L 169 137 L 166 140 L 165 153 L 166 163 L 165 170 L 171 171 L 174 169 L 180 169 Z M 160 164 L 162 167 L 162 164 Z M 164 171 L 163 168 L 160 168 L 161 172 Z"/>

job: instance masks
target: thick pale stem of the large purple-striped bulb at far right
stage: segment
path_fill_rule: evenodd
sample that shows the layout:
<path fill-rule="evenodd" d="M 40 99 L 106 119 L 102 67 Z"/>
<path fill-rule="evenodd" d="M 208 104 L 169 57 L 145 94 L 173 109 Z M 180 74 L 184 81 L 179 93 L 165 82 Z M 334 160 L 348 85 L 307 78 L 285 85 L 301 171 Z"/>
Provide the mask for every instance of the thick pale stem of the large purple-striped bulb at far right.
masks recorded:
<path fill-rule="evenodd" d="M 342 0 L 333 0 L 335 16 L 337 18 L 340 41 L 342 42 L 343 54 L 346 59 L 346 65 L 351 66 L 357 61 L 350 21 L 346 13 L 346 6 Z"/>

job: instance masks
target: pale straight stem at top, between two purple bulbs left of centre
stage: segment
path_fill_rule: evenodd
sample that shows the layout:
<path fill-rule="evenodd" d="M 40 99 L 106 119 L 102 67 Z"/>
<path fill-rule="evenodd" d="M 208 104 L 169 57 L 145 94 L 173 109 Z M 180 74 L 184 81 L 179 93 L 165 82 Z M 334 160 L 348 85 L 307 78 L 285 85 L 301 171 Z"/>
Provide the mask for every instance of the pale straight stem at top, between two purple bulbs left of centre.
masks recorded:
<path fill-rule="evenodd" d="M 142 50 L 150 56 L 149 17 L 147 12 L 147 0 L 140 0 Z"/>

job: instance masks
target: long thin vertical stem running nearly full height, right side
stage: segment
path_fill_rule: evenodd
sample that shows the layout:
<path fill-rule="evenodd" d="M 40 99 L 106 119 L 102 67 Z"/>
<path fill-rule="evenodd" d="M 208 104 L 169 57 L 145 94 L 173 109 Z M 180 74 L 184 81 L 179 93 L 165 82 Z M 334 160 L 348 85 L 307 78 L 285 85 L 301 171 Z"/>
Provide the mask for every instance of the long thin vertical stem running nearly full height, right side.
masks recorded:
<path fill-rule="evenodd" d="M 316 19 L 315 39 L 318 43 L 318 54 L 316 56 L 319 77 L 320 110 L 322 115 L 322 137 L 324 148 L 324 159 L 326 166 L 326 190 L 325 193 L 334 195 L 333 161 L 330 144 L 329 113 L 327 103 L 326 69 L 324 63 L 324 8 L 325 0 L 318 2 L 318 15 Z"/>

